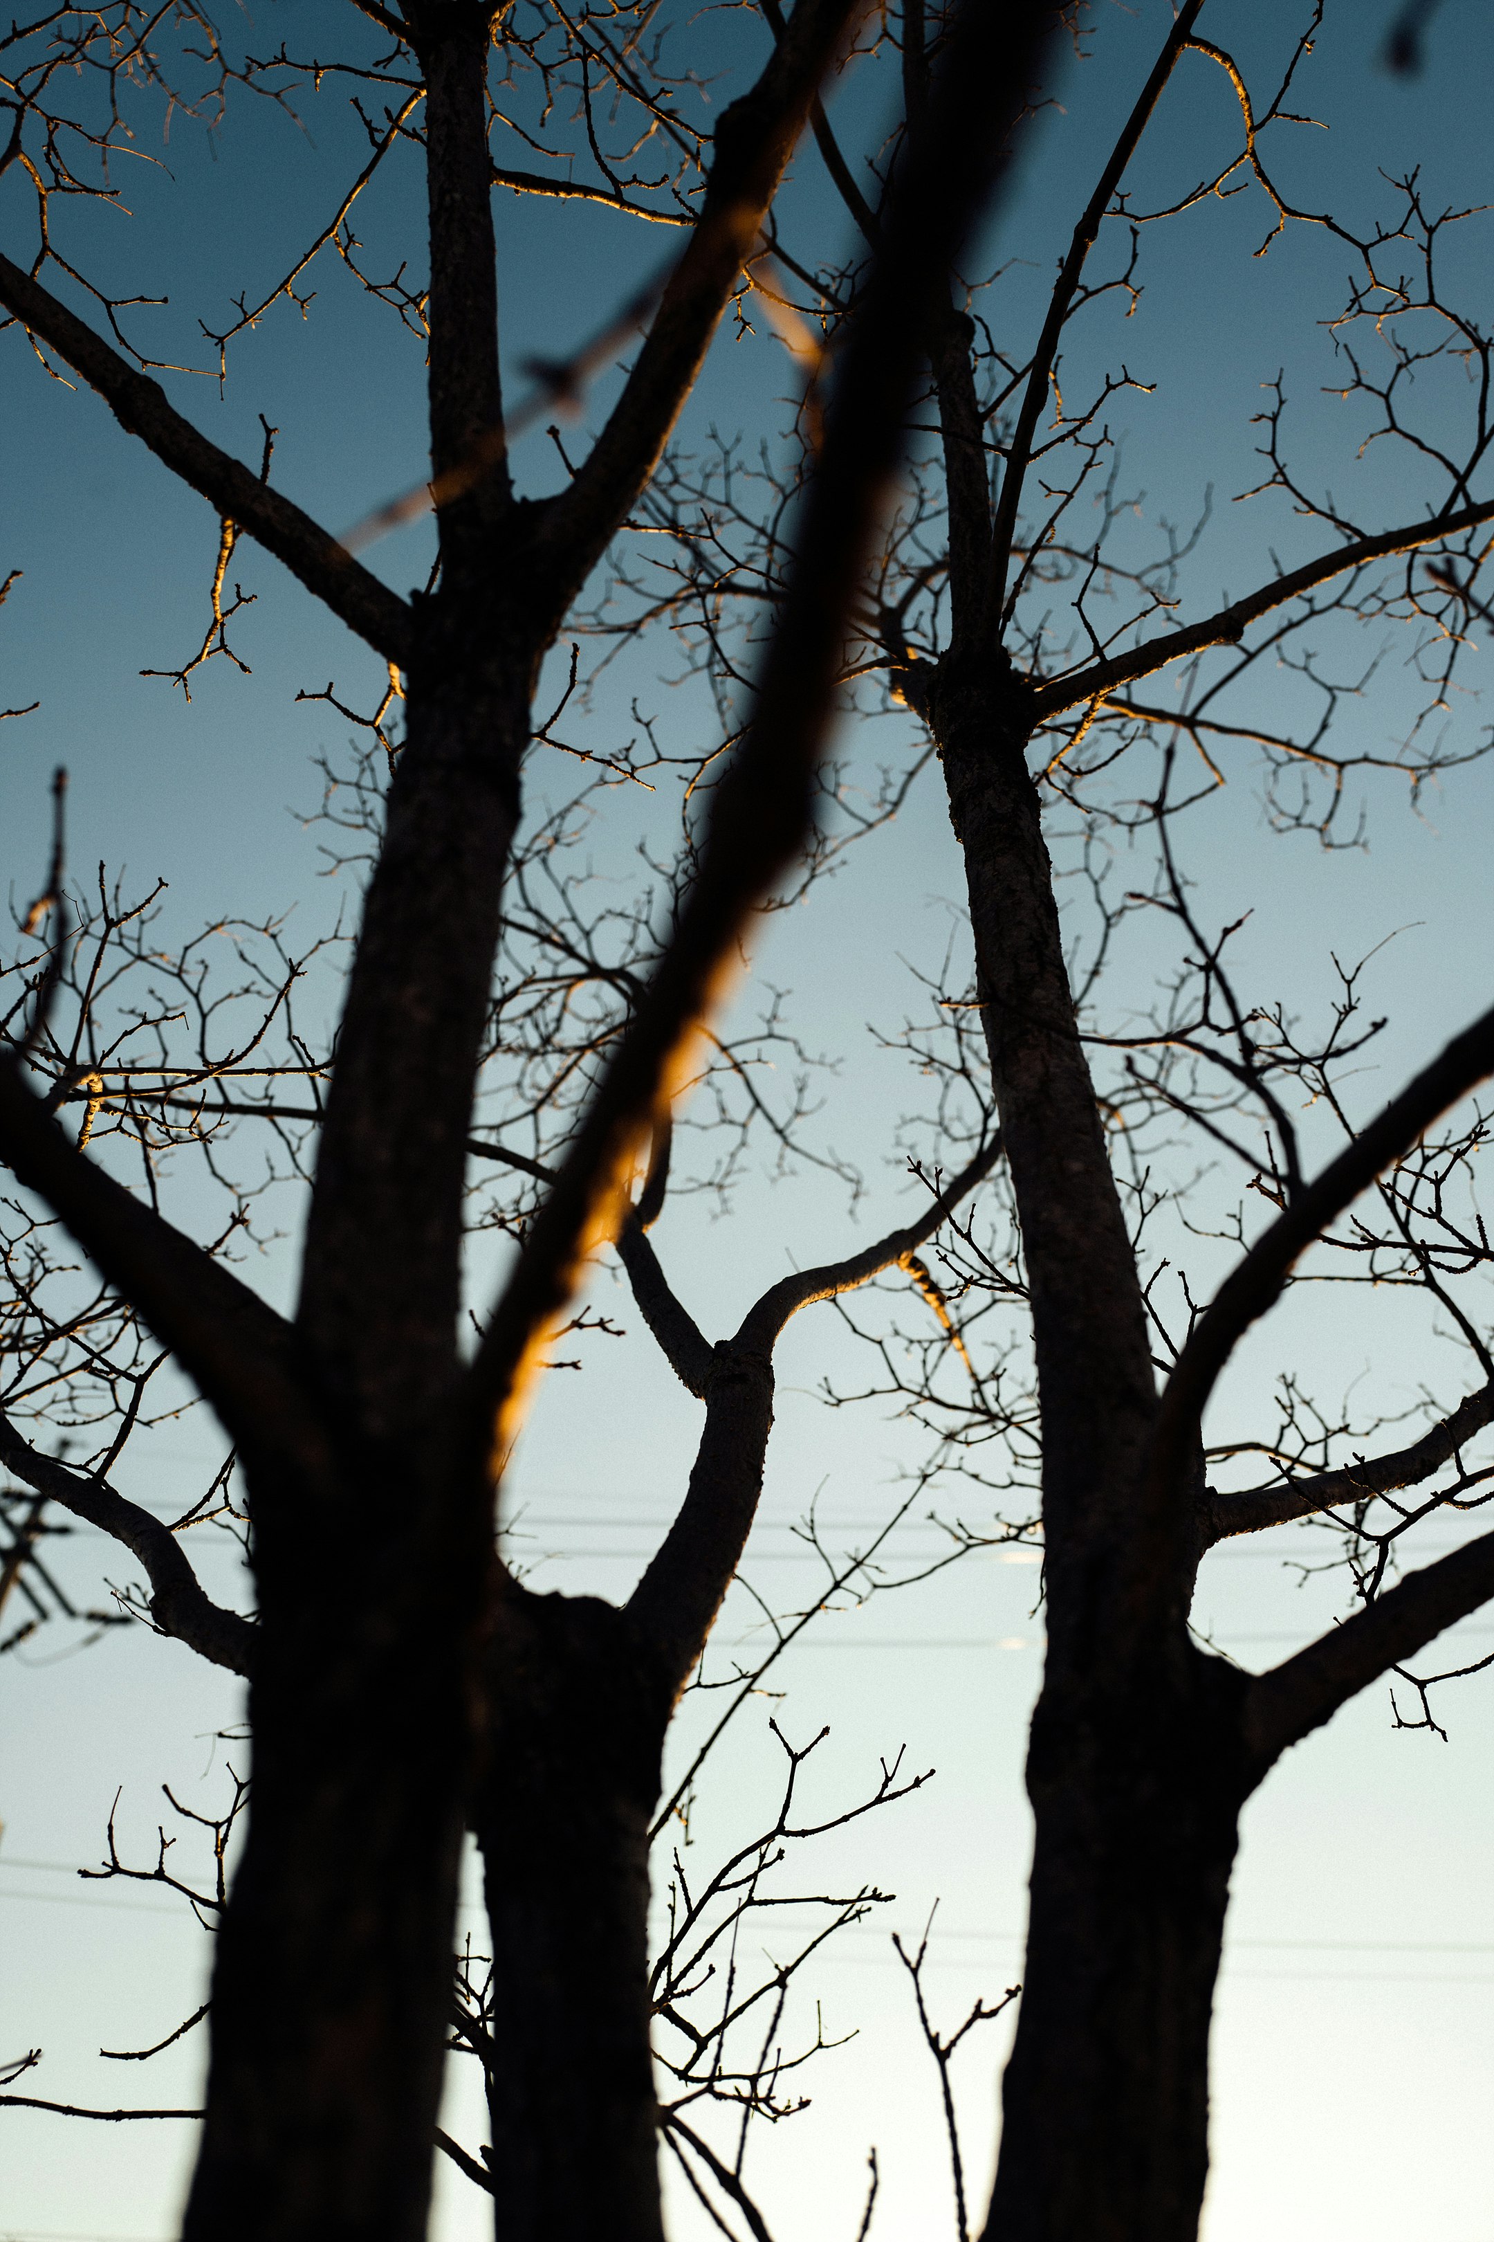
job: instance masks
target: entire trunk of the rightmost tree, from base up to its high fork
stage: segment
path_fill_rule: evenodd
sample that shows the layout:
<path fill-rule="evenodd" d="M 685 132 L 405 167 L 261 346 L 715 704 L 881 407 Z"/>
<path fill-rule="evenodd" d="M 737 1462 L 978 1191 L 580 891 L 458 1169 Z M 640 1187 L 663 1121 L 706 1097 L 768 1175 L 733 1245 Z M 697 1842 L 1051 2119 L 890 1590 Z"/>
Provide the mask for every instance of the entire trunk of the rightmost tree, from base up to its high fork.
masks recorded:
<path fill-rule="evenodd" d="M 1192 2242 L 1250 1789 L 1236 1684 L 1187 1648 L 1192 1551 L 1133 1560 L 1156 1377 L 1026 769 L 1026 686 L 1003 661 L 947 659 L 930 713 L 1033 1300 L 1048 1542 L 1028 1957 L 986 2233 Z"/>

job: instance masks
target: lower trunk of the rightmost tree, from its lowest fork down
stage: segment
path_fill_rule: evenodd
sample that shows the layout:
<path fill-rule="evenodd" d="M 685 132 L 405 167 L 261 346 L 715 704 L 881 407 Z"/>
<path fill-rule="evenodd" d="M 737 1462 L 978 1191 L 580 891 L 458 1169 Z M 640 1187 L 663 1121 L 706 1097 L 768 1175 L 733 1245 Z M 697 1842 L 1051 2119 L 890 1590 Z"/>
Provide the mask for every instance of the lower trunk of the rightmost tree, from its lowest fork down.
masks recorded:
<path fill-rule="evenodd" d="M 1194 2242 L 1239 1809 L 1243 1677 L 1178 1646 L 1169 1684 L 1048 1675 L 1017 2042 L 986 2242 Z"/>

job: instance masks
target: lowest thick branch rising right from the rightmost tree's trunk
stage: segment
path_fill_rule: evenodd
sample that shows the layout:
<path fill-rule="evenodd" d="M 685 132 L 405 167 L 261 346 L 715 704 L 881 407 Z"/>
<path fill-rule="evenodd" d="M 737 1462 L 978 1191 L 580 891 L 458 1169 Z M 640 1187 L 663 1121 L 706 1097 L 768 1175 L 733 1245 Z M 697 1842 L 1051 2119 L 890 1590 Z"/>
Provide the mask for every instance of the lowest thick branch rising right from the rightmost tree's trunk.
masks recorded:
<path fill-rule="evenodd" d="M 1494 1534 L 1422 1565 L 1375 1596 L 1333 1634 L 1257 1675 L 1245 1693 L 1243 1735 L 1257 1782 L 1288 1744 L 1322 1729 L 1375 1675 L 1389 1673 L 1494 1596 Z"/>

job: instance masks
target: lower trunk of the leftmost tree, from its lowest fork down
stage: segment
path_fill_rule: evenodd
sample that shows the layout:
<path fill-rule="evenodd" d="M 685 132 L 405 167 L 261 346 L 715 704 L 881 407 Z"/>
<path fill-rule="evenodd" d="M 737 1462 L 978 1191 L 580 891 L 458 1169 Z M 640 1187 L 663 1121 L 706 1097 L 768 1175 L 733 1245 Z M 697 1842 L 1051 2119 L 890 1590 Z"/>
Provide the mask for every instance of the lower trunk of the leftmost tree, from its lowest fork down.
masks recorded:
<path fill-rule="evenodd" d="M 426 2233 L 482 1558 L 419 1473 L 349 1477 L 363 1527 L 309 1500 L 293 1547 L 262 1536 L 253 1803 L 186 2242 Z"/>

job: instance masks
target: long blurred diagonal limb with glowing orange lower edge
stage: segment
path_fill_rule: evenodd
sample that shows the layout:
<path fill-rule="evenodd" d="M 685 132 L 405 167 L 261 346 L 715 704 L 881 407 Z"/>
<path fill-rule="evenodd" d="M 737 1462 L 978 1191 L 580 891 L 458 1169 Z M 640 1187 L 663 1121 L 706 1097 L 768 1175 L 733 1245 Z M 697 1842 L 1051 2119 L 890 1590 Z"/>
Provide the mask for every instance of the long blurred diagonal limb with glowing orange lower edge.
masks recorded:
<path fill-rule="evenodd" d="M 779 56 L 795 49 L 802 18 L 820 22 L 813 0 L 802 0 Z M 1006 168 L 1008 139 L 1051 31 L 1053 11 L 1042 0 L 1012 11 L 968 4 L 945 47 L 934 101 L 914 135 L 851 321 L 791 585 L 748 731 L 715 796 L 699 874 L 466 1379 L 470 1437 L 497 1460 L 517 1430 L 520 1399 L 549 1325 L 564 1312 L 591 1249 L 616 1238 L 636 1141 L 667 1112 L 697 1022 L 735 962 L 741 926 L 802 847 L 813 767 L 835 711 L 847 617 L 903 455 L 905 406 L 939 289 Z M 833 40 L 824 45 L 833 49 Z M 806 74 L 804 101 L 811 90 Z"/>

